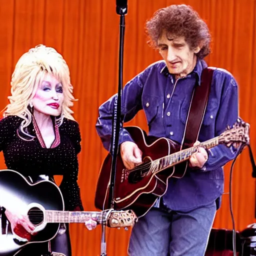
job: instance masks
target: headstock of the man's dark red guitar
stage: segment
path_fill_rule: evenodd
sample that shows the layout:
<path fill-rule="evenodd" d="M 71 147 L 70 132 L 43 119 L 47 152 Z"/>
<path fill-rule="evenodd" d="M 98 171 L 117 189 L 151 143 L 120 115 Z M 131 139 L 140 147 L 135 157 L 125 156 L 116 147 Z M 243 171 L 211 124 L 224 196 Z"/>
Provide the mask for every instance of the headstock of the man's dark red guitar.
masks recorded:
<path fill-rule="evenodd" d="M 248 123 L 238 118 L 232 127 L 227 126 L 227 129 L 219 135 L 218 142 L 227 146 L 233 143 L 249 144 L 249 127 Z"/>

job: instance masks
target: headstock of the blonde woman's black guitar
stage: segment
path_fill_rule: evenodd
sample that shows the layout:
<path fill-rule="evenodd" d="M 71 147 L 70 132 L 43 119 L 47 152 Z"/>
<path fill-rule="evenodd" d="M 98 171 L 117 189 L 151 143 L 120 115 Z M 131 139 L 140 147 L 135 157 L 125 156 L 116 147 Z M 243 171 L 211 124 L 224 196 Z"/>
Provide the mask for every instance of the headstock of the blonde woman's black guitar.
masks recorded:
<path fill-rule="evenodd" d="M 132 210 L 112 210 L 107 217 L 109 227 L 133 226 L 137 222 L 137 216 Z"/>

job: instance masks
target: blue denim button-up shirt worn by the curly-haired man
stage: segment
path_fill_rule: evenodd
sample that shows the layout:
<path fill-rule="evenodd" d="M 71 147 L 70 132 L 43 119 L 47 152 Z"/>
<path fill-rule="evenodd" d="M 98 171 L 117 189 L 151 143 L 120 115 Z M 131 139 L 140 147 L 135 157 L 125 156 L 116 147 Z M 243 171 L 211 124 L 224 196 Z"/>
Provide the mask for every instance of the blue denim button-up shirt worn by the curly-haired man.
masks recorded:
<path fill-rule="evenodd" d="M 204 60 L 197 60 L 191 73 L 178 78 L 168 73 L 164 61 L 157 61 L 131 79 L 123 88 L 121 118 L 129 121 L 143 109 L 149 127 L 149 135 L 167 137 L 181 142 L 189 102 L 194 86 L 200 86 Z M 110 150 L 113 95 L 99 107 L 97 133 L 104 148 Z M 219 135 L 227 125 L 233 125 L 238 117 L 237 84 L 226 70 L 214 70 L 210 94 L 198 140 L 205 141 Z M 119 143 L 132 141 L 121 127 Z M 192 210 L 207 205 L 223 193 L 222 166 L 236 156 L 233 147 L 223 144 L 209 150 L 207 162 L 201 169 L 188 169 L 182 178 L 169 178 L 163 195 L 164 204 L 172 210 Z"/>

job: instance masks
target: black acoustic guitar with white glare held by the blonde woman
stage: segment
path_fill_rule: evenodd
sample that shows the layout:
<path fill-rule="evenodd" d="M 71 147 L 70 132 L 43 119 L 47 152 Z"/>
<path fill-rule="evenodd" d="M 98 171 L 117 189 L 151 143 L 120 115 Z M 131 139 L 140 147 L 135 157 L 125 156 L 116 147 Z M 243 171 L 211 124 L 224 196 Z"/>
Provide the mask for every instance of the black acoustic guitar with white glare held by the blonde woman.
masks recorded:
<path fill-rule="evenodd" d="M 0 170 L 0 205 L 12 203 L 23 207 L 30 222 L 35 226 L 34 234 L 20 232 L 0 217 L 0 256 L 13 256 L 25 245 L 52 239 L 58 232 L 60 223 L 84 223 L 92 218 L 98 224 L 109 227 L 132 226 L 137 220 L 132 210 L 64 211 L 62 194 L 56 184 L 48 180 L 29 183 L 20 173 Z M 5 206 L 6 207 L 6 206 Z"/>

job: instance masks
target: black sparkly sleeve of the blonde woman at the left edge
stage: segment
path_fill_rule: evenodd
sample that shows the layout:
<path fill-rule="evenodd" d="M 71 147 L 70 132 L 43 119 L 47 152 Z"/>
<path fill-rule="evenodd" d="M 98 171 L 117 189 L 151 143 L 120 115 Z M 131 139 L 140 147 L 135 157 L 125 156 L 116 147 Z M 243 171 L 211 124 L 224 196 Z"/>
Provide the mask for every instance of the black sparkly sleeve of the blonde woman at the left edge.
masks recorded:
<path fill-rule="evenodd" d="M 20 122 L 21 118 L 15 115 L 7 115 L 0 119 L 0 151 L 15 136 Z"/>

